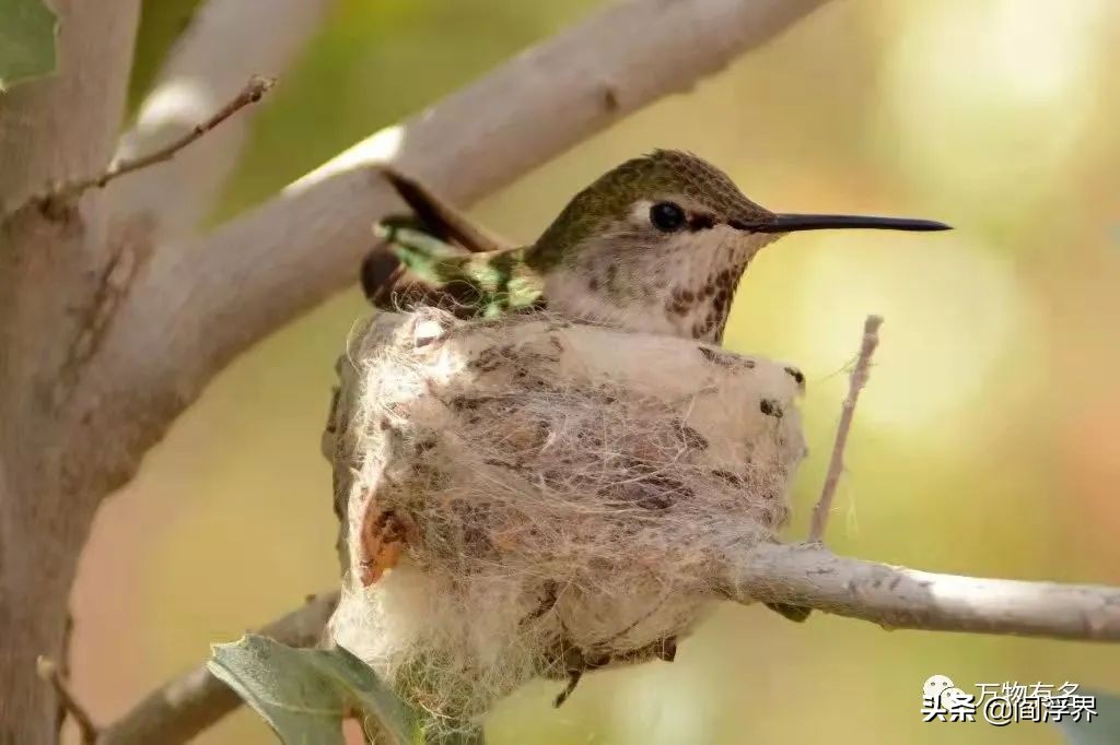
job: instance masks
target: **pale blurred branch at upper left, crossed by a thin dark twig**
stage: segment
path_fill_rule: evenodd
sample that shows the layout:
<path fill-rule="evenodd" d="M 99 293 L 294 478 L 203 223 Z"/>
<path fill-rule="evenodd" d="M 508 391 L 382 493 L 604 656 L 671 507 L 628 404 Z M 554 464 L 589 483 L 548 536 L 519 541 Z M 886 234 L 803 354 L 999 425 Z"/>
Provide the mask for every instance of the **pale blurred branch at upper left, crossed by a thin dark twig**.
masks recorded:
<path fill-rule="evenodd" d="M 140 106 L 118 159 L 151 152 L 190 131 L 251 75 L 281 77 L 320 28 L 334 0 L 270 0 L 267 11 L 244 0 L 208 0 L 195 12 L 160 78 Z M 251 117 L 239 116 L 176 160 L 115 185 L 116 217 L 144 216 L 153 237 L 189 235 L 214 205 L 237 164 Z"/>

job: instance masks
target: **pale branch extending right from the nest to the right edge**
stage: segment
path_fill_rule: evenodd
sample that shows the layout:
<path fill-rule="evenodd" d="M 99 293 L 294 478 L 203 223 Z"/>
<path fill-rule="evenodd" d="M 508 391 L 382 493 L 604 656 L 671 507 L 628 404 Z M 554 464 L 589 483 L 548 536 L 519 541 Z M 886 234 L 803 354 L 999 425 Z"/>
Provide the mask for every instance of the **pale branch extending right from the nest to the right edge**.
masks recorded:
<path fill-rule="evenodd" d="M 886 629 L 1120 641 L 1120 588 L 934 574 L 766 544 L 728 577 L 729 595 L 813 607 Z"/>

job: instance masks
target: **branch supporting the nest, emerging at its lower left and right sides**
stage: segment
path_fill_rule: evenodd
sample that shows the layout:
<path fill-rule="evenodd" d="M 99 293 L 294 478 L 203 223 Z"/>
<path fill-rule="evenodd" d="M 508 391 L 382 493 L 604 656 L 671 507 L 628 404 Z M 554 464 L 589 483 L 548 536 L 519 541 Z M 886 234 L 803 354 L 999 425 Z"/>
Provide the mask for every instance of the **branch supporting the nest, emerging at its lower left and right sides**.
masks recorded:
<path fill-rule="evenodd" d="M 820 544 L 760 544 L 728 570 L 725 593 L 739 603 L 781 603 L 859 619 L 885 629 L 954 631 L 1120 642 L 1120 588 L 937 574 L 837 556 Z M 337 593 L 262 633 L 310 645 Z M 300 625 L 302 631 L 290 633 Z M 206 667 L 167 683 L 108 727 L 99 745 L 184 743 L 241 700 Z"/>

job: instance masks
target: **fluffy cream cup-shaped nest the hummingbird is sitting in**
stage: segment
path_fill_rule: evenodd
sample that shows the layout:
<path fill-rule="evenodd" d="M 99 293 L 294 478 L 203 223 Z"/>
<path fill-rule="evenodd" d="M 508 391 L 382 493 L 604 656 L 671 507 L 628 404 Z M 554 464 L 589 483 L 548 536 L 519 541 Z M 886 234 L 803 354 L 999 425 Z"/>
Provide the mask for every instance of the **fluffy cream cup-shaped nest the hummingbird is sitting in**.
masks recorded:
<path fill-rule="evenodd" d="M 437 719 L 671 659 L 805 452 L 794 368 L 541 314 L 382 313 L 339 375 L 332 634 Z"/>

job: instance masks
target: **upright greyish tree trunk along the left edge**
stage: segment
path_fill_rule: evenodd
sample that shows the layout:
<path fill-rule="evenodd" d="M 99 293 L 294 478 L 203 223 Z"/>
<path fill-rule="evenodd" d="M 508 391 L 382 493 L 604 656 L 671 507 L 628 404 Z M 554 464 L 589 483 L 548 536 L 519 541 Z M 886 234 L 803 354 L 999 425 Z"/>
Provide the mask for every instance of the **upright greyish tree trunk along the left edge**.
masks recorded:
<path fill-rule="evenodd" d="M 84 436 L 58 405 L 104 268 L 101 200 L 52 218 L 8 210 L 112 157 L 140 3 L 50 6 L 57 74 L 0 96 L 0 743 L 57 739 L 58 697 L 36 658 L 62 660 L 77 554 L 109 480 L 92 464 L 113 440 Z"/>

